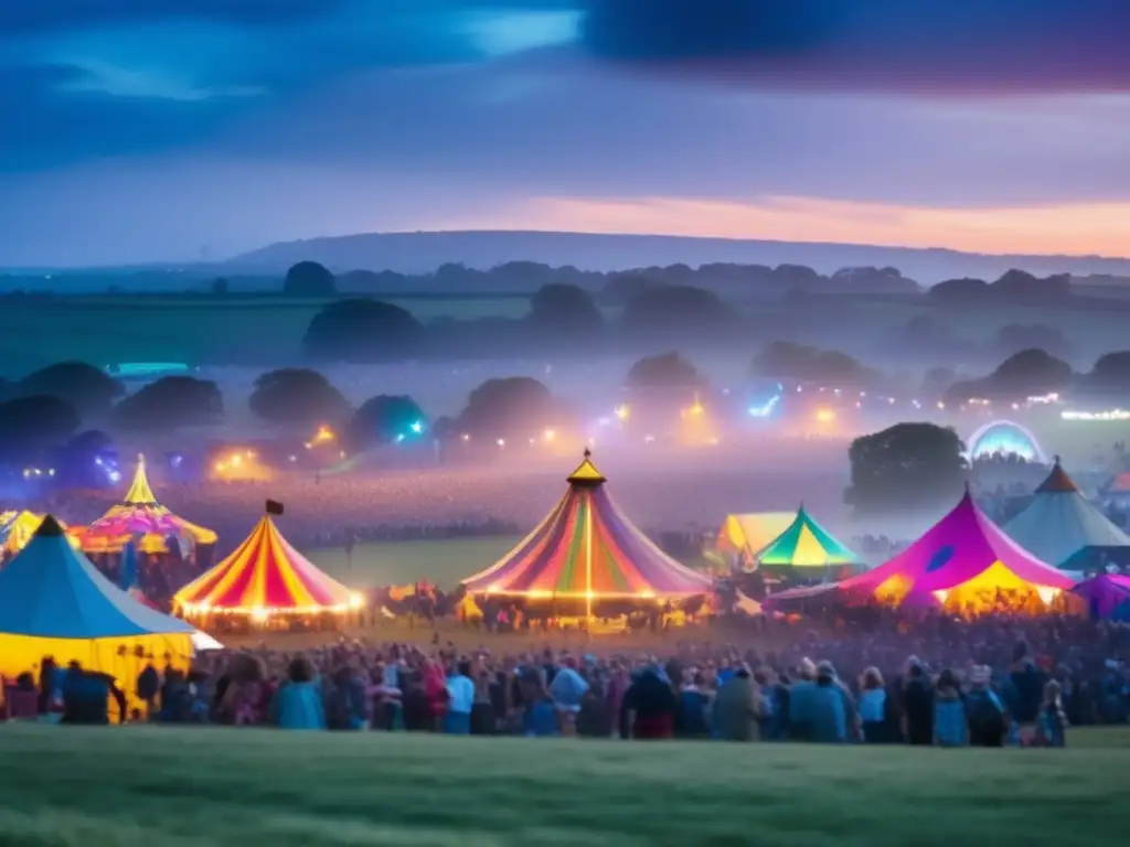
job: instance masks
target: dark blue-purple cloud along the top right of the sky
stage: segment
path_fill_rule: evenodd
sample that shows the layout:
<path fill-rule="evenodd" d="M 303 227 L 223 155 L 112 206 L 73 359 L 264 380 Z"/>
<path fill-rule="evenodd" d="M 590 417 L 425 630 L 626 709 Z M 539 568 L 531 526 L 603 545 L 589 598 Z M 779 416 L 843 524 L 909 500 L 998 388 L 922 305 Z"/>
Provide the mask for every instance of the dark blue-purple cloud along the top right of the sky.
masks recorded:
<path fill-rule="evenodd" d="M 1128 0 L 588 0 L 584 41 L 766 88 L 1130 90 Z"/>

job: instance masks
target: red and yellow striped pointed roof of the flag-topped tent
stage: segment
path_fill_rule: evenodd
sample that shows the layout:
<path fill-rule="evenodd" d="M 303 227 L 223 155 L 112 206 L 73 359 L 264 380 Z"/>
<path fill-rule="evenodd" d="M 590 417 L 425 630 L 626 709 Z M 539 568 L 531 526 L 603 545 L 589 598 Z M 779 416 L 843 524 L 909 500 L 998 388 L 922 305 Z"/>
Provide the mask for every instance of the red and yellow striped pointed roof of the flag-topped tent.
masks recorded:
<path fill-rule="evenodd" d="M 355 609 L 359 600 L 290 547 L 267 514 L 235 552 L 181 588 L 173 603 L 190 613 L 311 614 Z"/>

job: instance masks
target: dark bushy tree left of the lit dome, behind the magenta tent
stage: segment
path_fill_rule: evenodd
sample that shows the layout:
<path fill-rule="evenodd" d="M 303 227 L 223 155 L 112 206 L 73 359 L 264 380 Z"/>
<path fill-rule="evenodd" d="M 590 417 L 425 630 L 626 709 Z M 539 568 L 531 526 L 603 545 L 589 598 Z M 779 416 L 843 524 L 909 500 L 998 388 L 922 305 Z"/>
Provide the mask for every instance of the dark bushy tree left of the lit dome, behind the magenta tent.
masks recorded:
<path fill-rule="evenodd" d="M 860 515 L 951 501 L 965 481 L 964 453 L 957 433 L 933 424 L 896 424 L 857 438 L 847 451 L 851 486 L 844 501 Z"/>

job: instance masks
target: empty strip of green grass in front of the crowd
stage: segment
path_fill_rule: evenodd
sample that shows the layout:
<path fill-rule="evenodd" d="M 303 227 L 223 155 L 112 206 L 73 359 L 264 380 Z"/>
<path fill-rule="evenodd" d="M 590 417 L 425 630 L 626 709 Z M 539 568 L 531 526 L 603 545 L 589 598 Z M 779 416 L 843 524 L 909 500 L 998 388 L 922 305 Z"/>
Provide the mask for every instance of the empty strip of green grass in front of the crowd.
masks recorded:
<path fill-rule="evenodd" d="M 0 726 L 11 845 L 1124 844 L 1130 735 L 1066 751 Z"/>

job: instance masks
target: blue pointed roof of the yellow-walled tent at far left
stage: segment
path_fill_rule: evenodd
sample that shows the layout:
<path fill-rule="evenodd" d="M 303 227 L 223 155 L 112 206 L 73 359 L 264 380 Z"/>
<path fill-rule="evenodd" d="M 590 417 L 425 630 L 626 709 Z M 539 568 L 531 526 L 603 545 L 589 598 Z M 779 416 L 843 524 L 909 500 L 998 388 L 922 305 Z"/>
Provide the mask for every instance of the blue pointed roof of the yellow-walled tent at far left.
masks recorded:
<path fill-rule="evenodd" d="M 192 631 L 111 583 L 51 515 L 0 570 L 0 634 L 88 640 Z"/>

